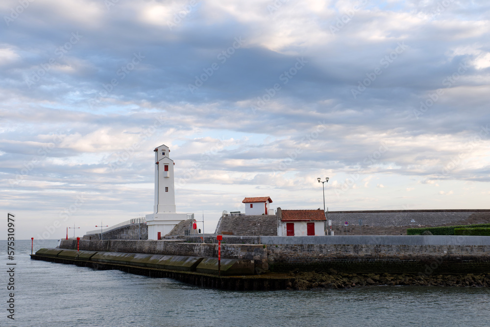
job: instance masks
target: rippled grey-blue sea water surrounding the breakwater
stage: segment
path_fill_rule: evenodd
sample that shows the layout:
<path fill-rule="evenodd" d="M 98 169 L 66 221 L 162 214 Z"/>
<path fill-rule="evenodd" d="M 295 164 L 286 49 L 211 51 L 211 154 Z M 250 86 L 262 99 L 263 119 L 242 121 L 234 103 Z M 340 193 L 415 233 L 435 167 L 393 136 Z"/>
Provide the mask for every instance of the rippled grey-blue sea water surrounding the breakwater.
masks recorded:
<path fill-rule="evenodd" d="M 56 240 L 34 242 L 34 252 Z M 15 260 L 0 241 L 0 326 L 490 326 L 487 288 L 388 287 L 230 292 L 116 270 Z M 15 266 L 15 321 L 7 319 L 7 262 Z"/>

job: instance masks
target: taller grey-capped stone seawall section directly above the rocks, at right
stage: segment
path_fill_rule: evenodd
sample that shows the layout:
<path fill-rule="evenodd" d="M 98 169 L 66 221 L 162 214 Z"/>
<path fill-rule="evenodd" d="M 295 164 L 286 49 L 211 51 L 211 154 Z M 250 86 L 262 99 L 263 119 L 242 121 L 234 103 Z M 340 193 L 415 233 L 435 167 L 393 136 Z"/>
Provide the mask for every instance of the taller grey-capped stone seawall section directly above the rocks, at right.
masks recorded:
<path fill-rule="evenodd" d="M 261 237 L 275 272 L 489 273 L 488 236 Z"/>

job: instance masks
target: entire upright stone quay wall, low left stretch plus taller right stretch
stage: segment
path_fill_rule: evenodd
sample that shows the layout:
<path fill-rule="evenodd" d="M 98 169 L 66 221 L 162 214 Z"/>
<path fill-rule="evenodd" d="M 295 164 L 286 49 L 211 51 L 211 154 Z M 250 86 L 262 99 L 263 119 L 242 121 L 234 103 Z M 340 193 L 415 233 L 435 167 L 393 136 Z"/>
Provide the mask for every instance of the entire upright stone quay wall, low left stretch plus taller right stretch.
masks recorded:
<path fill-rule="evenodd" d="M 80 249 L 217 257 L 218 244 L 185 240 L 80 240 Z M 210 244 L 215 242 L 215 244 Z M 490 272 L 488 236 L 223 236 L 221 257 L 254 260 L 256 272 L 335 269 L 352 273 L 460 274 Z M 60 248 L 76 249 L 76 240 Z"/>

